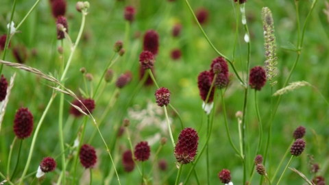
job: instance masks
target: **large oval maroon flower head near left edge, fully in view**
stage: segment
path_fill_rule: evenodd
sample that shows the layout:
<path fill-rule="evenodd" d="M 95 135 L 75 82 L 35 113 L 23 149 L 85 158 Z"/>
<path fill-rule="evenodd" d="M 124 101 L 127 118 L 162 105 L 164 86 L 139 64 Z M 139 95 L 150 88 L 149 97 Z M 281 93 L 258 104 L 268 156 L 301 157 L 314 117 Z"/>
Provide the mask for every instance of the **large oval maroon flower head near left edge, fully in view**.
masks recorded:
<path fill-rule="evenodd" d="M 14 119 L 14 133 L 17 138 L 24 139 L 31 136 L 33 131 L 33 115 L 27 108 L 17 110 Z"/>

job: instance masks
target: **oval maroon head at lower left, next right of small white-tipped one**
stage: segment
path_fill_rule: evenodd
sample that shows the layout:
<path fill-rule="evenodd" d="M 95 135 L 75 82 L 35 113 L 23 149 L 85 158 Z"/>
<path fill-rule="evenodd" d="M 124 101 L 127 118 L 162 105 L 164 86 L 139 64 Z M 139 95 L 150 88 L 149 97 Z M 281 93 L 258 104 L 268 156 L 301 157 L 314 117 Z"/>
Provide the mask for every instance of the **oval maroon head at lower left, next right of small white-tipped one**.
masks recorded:
<path fill-rule="evenodd" d="M 80 162 L 86 169 L 93 168 L 97 162 L 96 151 L 90 145 L 82 145 L 80 149 Z"/>

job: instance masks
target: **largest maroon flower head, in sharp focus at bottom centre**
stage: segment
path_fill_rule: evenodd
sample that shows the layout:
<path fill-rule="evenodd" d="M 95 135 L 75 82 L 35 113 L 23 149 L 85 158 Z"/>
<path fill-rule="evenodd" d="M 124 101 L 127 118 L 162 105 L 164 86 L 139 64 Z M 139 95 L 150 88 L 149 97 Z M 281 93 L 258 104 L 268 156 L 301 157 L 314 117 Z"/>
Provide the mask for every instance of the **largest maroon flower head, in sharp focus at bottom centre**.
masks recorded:
<path fill-rule="evenodd" d="M 198 140 L 197 132 L 191 127 L 186 127 L 180 132 L 174 151 L 175 158 L 180 164 L 188 164 L 194 160 Z"/>

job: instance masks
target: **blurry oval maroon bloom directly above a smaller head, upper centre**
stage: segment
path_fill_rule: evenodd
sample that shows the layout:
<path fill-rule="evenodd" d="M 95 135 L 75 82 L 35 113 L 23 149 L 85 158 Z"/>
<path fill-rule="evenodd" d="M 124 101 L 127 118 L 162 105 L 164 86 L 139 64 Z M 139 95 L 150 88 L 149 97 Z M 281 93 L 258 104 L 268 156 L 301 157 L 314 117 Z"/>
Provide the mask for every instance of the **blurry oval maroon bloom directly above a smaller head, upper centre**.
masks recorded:
<path fill-rule="evenodd" d="M 143 50 L 151 51 L 154 56 L 158 54 L 159 49 L 159 35 L 155 30 L 147 30 L 144 35 Z"/>

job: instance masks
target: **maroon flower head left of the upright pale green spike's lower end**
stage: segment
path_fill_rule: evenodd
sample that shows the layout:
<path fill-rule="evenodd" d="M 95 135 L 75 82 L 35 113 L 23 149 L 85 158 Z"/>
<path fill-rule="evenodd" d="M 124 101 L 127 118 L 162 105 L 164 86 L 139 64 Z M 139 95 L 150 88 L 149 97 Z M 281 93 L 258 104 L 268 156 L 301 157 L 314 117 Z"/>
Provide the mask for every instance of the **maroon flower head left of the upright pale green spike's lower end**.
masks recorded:
<path fill-rule="evenodd" d="M 261 90 L 266 84 L 266 72 L 261 66 L 254 66 L 249 74 L 249 86 Z"/>

